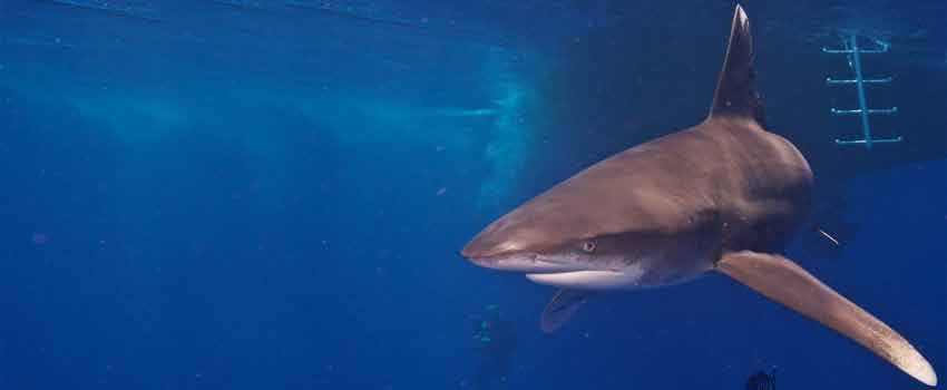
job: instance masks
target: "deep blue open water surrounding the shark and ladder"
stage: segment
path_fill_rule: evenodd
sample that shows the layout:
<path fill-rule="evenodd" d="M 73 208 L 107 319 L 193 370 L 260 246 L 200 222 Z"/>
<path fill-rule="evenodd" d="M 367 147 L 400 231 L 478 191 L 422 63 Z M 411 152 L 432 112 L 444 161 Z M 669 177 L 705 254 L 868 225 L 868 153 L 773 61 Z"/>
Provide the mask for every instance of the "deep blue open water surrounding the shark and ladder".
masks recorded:
<path fill-rule="evenodd" d="M 922 388 L 719 274 L 545 334 L 551 287 L 458 253 L 700 121 L 733 6 L 0 1 L 0 388 L 476 389 L 489 315 L 515 353 L 482 388 Z M 789 256 L 947 373 L 947 3 L 743 6 L 769 125 L 850 233 Z M 901 143 L 834 144 L 861 126 L 821 48 L 849 32 L 890 45 L 863 61 Z"/>

